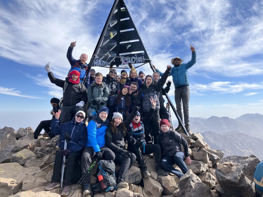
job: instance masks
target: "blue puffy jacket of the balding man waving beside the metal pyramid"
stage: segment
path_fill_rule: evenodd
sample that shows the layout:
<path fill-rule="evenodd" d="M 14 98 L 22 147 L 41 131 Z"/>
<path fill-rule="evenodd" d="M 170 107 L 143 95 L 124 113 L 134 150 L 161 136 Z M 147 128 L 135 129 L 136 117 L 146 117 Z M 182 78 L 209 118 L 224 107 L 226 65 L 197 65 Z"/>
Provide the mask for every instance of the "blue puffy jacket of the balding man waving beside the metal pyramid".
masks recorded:
<path fill-rule="evenodd" d="M 80 73 L 79 81 L 82 82 L 83 78 L 85 77 L 86 70 L 88 68 L 88 64 L 85 63 L 82 65 L 80 63 L 80 60 L 76 60 L 75 58 L 73 58 L 72 57 L 72 51 L 73 51 L 73 48 L 71 48 L 69 46 L 68 51 L 67 51 L 67 58 L 68 58 L 68 61 L 70 63 L 70 66 L 71 66 L 69 72 L 71 72 L 72 70 L 79 71 L 79 73 Z M 68 76 L 69 76 L 69 73 L 68 73 Z"/>

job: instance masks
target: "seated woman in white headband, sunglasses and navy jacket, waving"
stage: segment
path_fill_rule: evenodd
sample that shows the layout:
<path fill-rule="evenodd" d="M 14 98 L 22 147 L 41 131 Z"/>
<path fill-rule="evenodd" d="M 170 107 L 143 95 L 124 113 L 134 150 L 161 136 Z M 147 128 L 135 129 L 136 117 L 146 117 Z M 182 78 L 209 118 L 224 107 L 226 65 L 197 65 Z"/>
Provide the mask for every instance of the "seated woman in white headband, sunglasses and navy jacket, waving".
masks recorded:
<path fill-rule="evenodd" d="M 72 184 L 75 161 L 81 158 L 82 149 L 87 142 L 87 127 L 83 122 L 85 117 L 83 111 L 78 111 L 71 122 L 66 122 L 58 126 L 60 113 L 61 111 L 58 110 L 55 114 L 55 118 L 51 123 L 51 133 L 61 135 L 61 143 L 59 144 L 59 148 L 61 149 L 56 153 L 51 183 L 45 187 L 45 190 L 52 190 L 60 186 L 61 167 L 63 157 L 66 156 L 67 165 L 64 173 L 64 189 L 61 193 L 61 195 L 66 196 L 69 194 L 70 185 Z M 66 132 L 68 132 L 71 138 L 64 150 Z"/>

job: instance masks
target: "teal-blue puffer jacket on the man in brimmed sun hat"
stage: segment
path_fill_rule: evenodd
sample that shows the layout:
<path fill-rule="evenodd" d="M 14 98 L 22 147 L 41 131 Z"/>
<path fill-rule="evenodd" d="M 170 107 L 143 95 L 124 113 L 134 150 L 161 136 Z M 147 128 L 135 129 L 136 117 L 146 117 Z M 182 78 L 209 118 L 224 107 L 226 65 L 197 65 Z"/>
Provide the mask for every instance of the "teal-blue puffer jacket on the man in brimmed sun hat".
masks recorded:
<path fill-rule="evenodd" d="M 173 77 L 174 87 L 189 86 L 188 69 L 196 63 L 196 53 L 192 53 L 192 59 L 188 63 L 183 63 L 180 66 L 174 66 L 171 69 L 169 76 Z M 163 76 L 163 72 L 156 69 L 160 76 Z"/>

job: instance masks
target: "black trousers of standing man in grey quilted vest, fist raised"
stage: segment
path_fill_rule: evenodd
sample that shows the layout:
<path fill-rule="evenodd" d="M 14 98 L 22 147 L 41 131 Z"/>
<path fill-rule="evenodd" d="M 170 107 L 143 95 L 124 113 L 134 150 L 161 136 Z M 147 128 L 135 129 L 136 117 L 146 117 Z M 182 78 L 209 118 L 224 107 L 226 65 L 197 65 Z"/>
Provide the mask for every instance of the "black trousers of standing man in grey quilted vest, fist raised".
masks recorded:
<path fill-rule="evenodd" d="M 147 115 L 148 112 L 143 112 L 143 117 Z M 150 122 L 147 125 L 144 125 L 145 132 L 145 141 L 149 142 L 151 140 L 151 136 L 154 137 L 154 143 L 156 144 L 156 139 L 160 131 L 160 116 L 159 110 L 155 110 L 153 112 L 153 116 L 151 117 Z"/>

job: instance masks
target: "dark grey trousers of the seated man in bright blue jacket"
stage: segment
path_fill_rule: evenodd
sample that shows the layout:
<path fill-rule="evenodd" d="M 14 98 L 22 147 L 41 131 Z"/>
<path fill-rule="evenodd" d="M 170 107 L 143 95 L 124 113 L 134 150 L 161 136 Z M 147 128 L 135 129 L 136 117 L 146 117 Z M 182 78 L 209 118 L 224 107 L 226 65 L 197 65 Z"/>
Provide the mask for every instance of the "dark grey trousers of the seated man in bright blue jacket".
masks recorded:
<path fill-rule="evenodd" d="M 103 146 L 100 148 L 100 152 L 104 151 L 102 157 L 105 160 L 113 160 L 115 159 L 115 154 L 112 152 L 111 149 L 109 149 L 107 146 Z M 84 151 L 82 153 L 81 157 L 81 171 L 82 175 L 85 174 L 85 172 L 89 169 L 91 161 L 93 157 L 95 156 L 95 152 L 92 147 L 85 147 Z M 87 177 L 83 180 L 82 183 L 90 183 L 90 173 L 87 175 Z"/>

